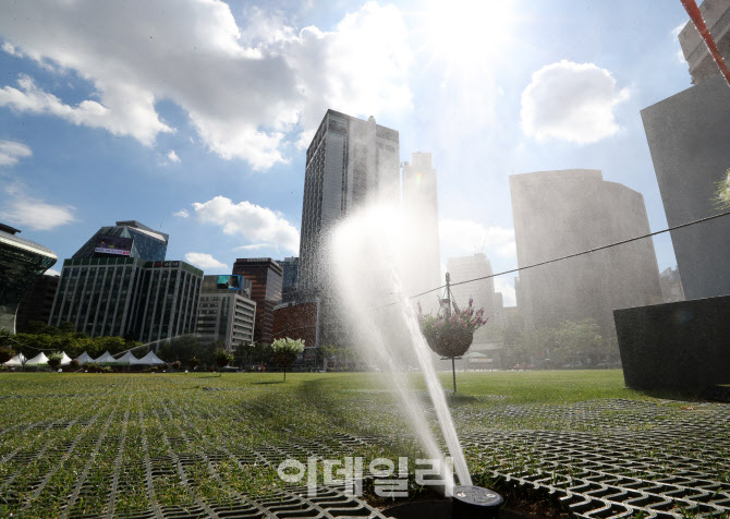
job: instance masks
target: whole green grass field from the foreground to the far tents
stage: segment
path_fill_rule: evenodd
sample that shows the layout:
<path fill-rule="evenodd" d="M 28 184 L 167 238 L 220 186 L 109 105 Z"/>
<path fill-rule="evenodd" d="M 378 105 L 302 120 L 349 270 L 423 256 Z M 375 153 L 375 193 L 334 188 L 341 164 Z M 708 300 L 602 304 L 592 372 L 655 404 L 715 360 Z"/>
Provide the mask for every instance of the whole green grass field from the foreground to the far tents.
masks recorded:
<path fill-rule="evenodd" d="M 624 478 L 656 482 L 692 466 L 706 483 L 695 492 L 705 498 L 685 493 L 660 510 L 730 510 L 727 405 L 632 391 L 617 370 L 459 373 L 458 382 L 449 403 L 477 482 L 550 474 L 570 490 L 593 470 L 582 456 L 608 446 L 640 460 L 606 463 Z M 246 504 L 245 517 L 261 517 L 273 506 L 261 505 L 267 496 L 296 499 L 277 474 L 283 459 L 423 456 L 387 387 L 386 374 L 292 373 L 285 383 L 277 373 L 2 374 L 0 516 L 224 517 Z"/>

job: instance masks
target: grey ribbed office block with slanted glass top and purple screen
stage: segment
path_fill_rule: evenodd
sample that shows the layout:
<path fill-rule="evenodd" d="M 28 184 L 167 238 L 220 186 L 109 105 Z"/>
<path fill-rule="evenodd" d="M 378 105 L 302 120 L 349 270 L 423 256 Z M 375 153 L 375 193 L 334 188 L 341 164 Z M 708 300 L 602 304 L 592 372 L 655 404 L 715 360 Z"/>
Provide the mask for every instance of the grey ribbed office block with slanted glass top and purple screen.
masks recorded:
<path fill-rule="evenodd" d="M 142 342 L 195 333 L 203 271 L 165 261 L 168 238 L 134 220 L 102 227 L 63 262 L 48 323 Z"/>

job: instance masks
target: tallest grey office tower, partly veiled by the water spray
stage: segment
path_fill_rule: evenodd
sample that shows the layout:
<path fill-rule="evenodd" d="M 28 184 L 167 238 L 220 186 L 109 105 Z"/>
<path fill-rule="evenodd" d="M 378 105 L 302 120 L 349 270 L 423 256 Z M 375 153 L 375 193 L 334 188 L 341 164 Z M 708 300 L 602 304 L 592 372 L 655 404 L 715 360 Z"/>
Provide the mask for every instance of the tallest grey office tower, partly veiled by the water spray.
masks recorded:
<path fill-rule="evenodd" d="M 319 293 L 327 280 L 323 245 L 327 231 L 366 202 L 398 204 L 398 132 L 327 110 L 306 153 L 300 289 Z"/>

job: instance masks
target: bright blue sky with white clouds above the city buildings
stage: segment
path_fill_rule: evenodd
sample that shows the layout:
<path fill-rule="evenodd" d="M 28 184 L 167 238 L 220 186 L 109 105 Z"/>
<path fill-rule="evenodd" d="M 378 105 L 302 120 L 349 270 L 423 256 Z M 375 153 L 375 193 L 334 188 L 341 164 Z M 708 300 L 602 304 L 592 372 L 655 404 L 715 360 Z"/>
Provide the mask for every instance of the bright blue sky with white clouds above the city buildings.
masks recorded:
<path fill-rule="evenodd" d="M 59 256 L 135 219 L 206 274 L 299 255 L 327 108 L 430 152 L 441 260 L 516 267 L 509 176 L 569 168 L 667 227 L 640 110 L 691 86 L 680 0 L 37 0 L 0 7 L 0 221 Z M 655 239 L 660 270 L 676 265 Z M 514 304 L 513 275 L 496 279 Z"/>

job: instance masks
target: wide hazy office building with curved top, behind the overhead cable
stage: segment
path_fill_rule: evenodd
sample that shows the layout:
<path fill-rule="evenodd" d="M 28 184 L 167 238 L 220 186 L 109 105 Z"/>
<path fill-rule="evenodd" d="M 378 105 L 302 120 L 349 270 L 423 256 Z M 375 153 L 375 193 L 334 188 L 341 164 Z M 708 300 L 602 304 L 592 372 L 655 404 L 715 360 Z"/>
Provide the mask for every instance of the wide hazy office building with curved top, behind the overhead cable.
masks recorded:
<path fill-rule="evenodd" d="M 510 191 L 520 267 L 649 232 L 644 197 L 598 170 L 513 174 Z M 527 326 L 594 318 L 606 337 L 613 310 L 661 302 L 650 239 L 522 270 L 515 289 Z"/>

